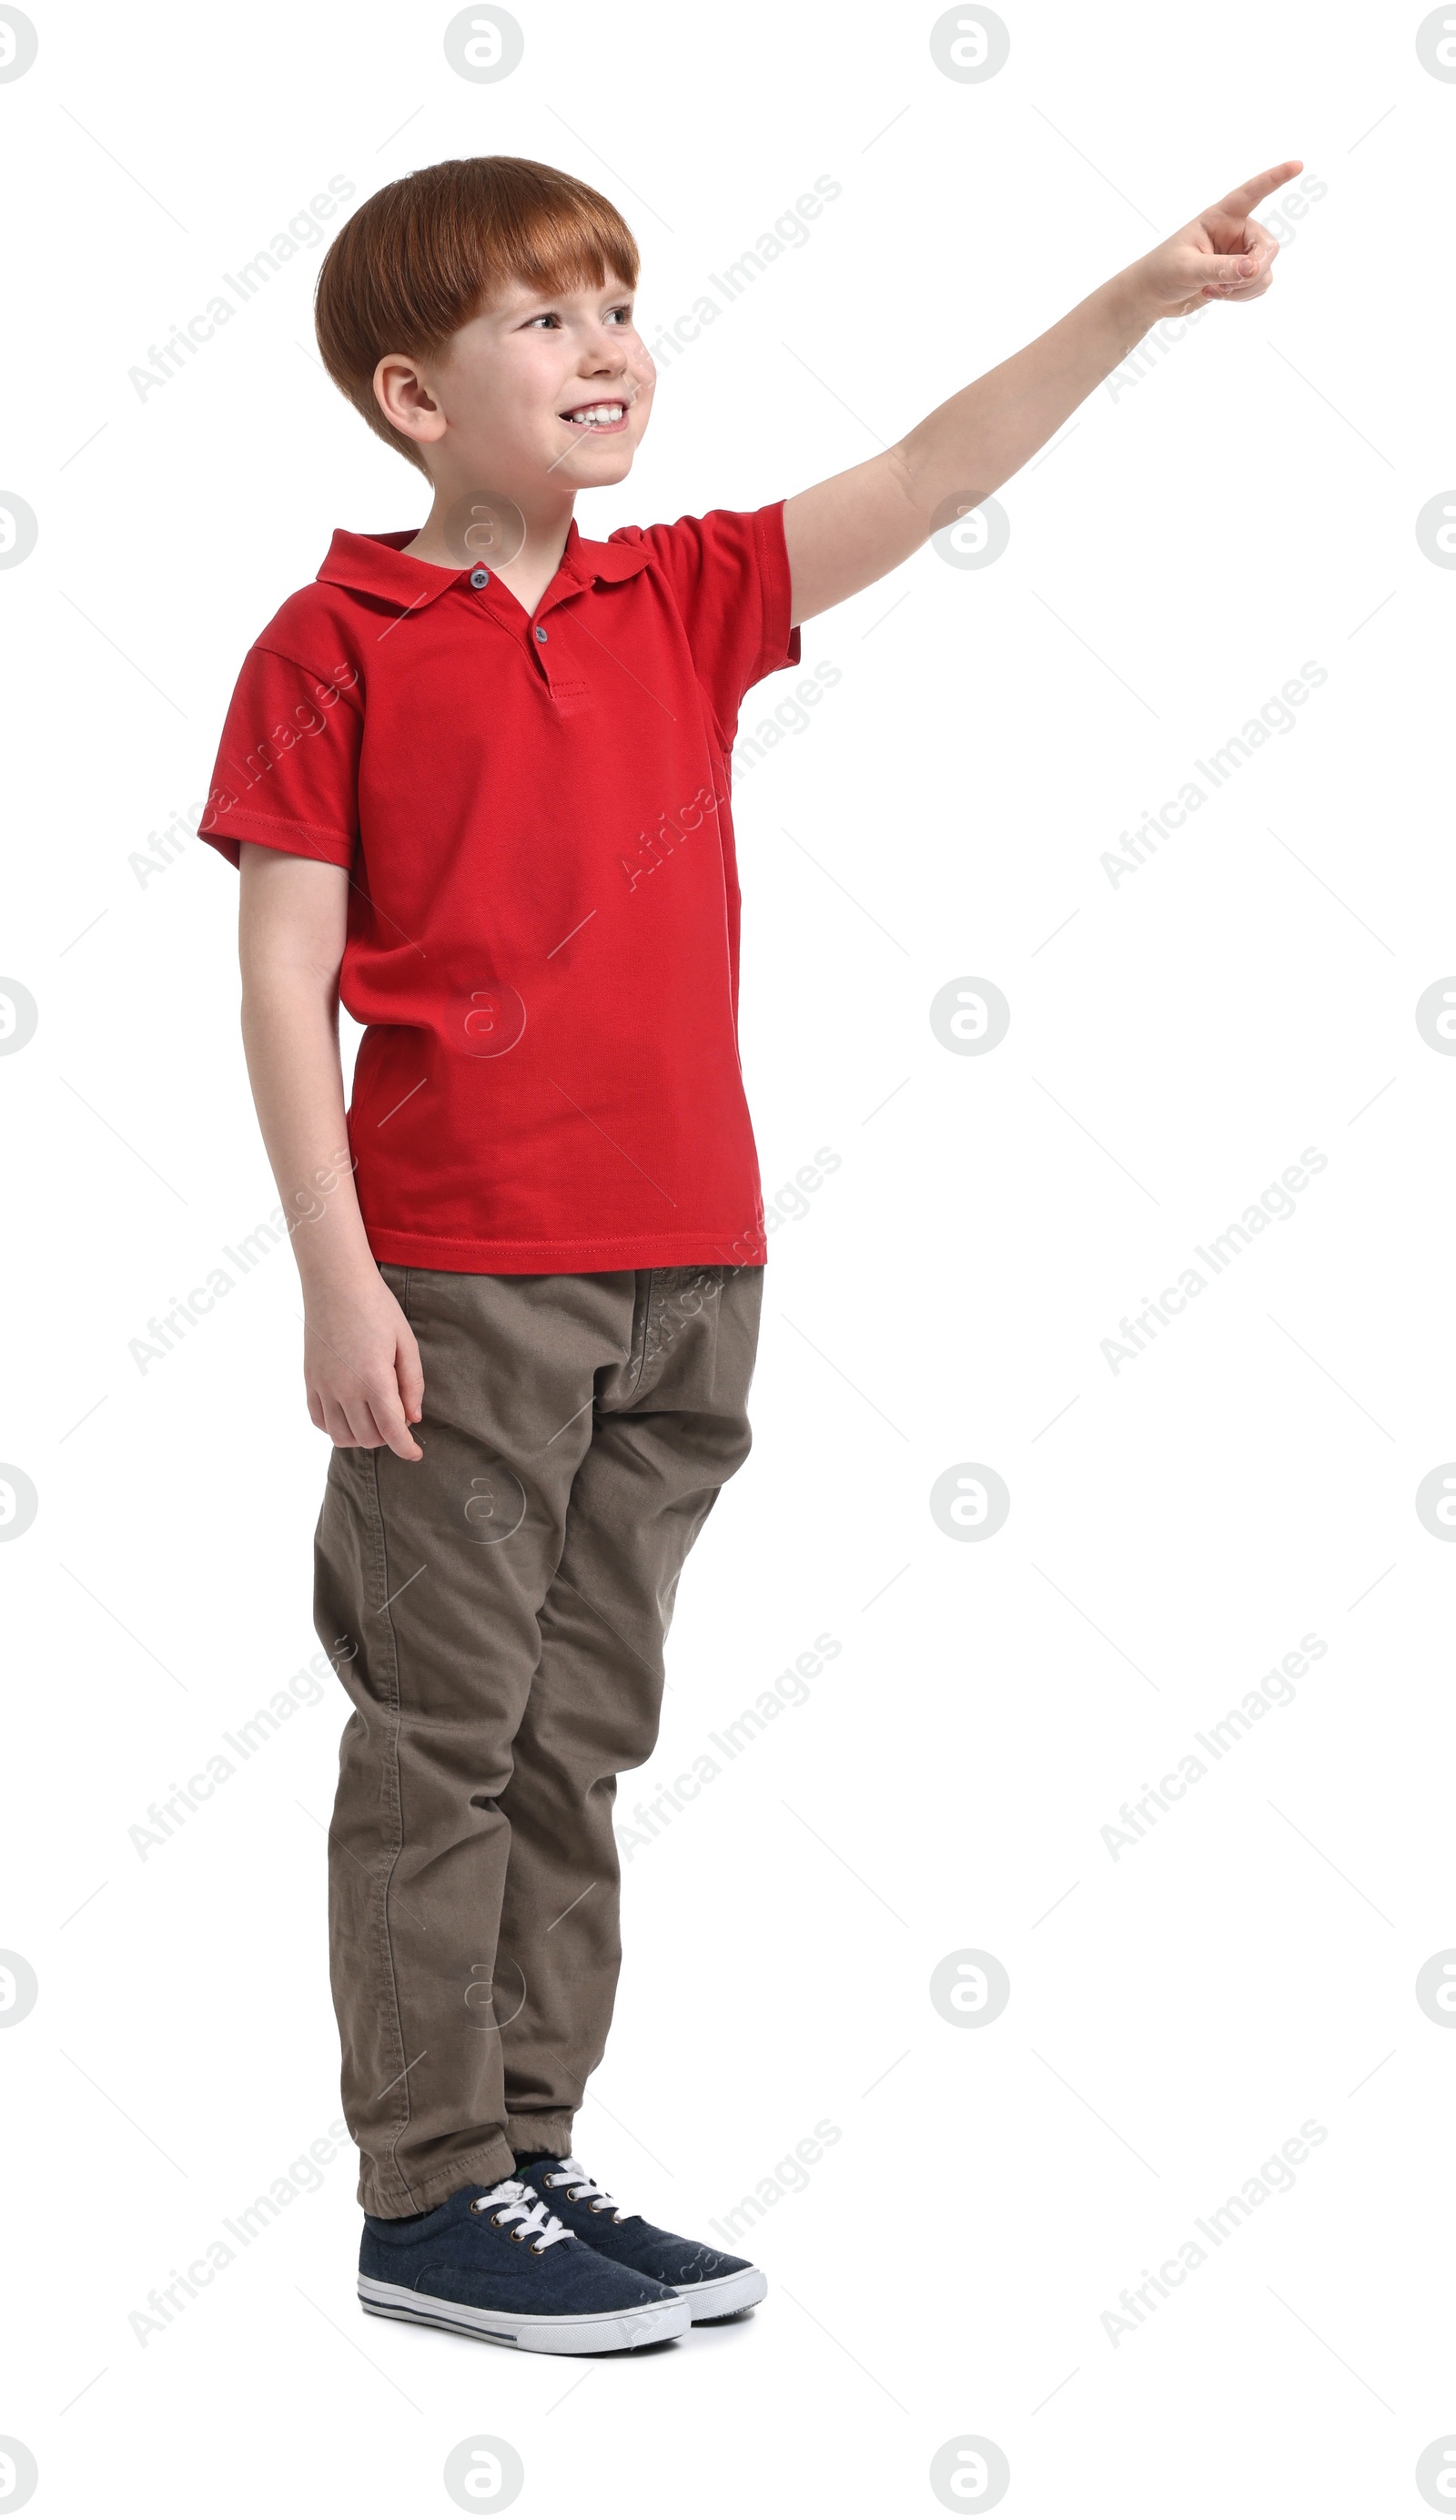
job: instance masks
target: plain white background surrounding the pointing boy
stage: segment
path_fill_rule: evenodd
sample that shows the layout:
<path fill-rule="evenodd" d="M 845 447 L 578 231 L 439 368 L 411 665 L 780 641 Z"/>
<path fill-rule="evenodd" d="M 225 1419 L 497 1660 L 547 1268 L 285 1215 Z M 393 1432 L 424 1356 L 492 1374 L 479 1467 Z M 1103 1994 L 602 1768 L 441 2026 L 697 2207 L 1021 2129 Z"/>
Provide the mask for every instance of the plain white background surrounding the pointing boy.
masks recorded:
<path fill-rule="evenodd" d="M 1456 83 L 1418 10 L 1008 8 L 985 83 L 935 10 L 521 5 L 499 86 L 448 8 L 35 10 L 0 86 L 0 585 L 13 859 L 0 1061 L 8 1396 L 38 1517 L 0 1555 L 0 2434 L 35 2510 L 935 2512 L 980 2434 L 1008 2512 L 1401 2515 L 1456 2427 L 1451 2076 L 1416 1971 L 1456 1943 L 1448 491 Z M 647 340 L 821 174 L 811 239 L 670 365 L 589 534 L 854 464 L 1204 202 L 1322 194 L 1254 307 L 1098 388 L 1003 491 L 814 620 L 841 680 L 741 781 L 743 1058 L 771 1245 L 756 1449 L 688 1567 L 655 1792 L 814 1635 L 841 1653 L 627 1867 L 579 2152 L 708 2235 L 746 2323 L 567 2364 L 365 2321 L 353 2157 L 161 2334 L 128 2313 L 338 2117 L 325 1835 L 343 1693 L 161 1850 L 128 1830 L 317 1651 L 325 1472 L 287 1252 L 139 1371 L 128 1343 L 272 1207 L 237 1041 L 234 877 L 131 857 L 204 794 L 247 643 L 335 524 L 423 484 L 325 381 L 300 252 L 164 391 L 128 368 L 333 174 L 511 151 L 600 184 Z M 338 222 L 335 222 L 338 224 Z M 1453 491 L 1456 499 L 1456 491 Z M 1101 859 L 1297 675 L 1328 680 L 1139 874 Z M 791 688 L 763 685 L 751 731 Z M 930 1000 L 1010 1000 L 952 1056 Z M 1305 1147 L 1325 1169 L 1156 1343 L 1101 1343 Z M 1197 1265 L 1197 1263 L 1194 1263 Z M 1209 1273 L 1204 1273 L 1209 1275 Z M 1010 1489 L 980 1545 L 952 1464 Z M 1103 1827 L 1307 1633 L 1328 1653 L 1116 1860 Z M 627 1797 L 625 1797 L 627 1799 Z M 932 1968 L 990 1950 L 995 2024 Z M 1292 2192 L 1129 2334 L 1305 2119 Z M 1156 2296 L 1151 2296 L 1156 2298 Z M 0 2500 L 0 2512 L 15 2497 Z M 977 2510 L 985 2497 L 955 2507 Z M 479 2502 L 489 2510 L 489 2502 Z"/>

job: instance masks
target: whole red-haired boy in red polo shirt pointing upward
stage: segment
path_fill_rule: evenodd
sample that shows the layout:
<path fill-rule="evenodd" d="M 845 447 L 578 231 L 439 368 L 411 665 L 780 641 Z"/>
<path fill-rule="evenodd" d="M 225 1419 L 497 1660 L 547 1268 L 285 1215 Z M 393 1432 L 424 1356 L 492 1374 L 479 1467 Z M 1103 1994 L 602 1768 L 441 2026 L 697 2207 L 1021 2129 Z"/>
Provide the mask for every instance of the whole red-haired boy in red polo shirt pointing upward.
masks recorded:
<path fill-rule="evenodd" d="M 343 393 L 431 486 L 335 532 L 237 683 L 202 832 L 333 1439 L 317 1630 L 365 2308 L 584 2354 L 763 2298 L 572 2157 L 617 1981 L 617 1774 L 748 1452 L 763 1202 L 728 759 L 799 622 L 977 507 L 1164 315 L 1270 287 L 1242 184 L 930 413 L 758 512 L 587 542 L 652 408 L 637 247 L 529 159 L 365 202 L 317 285 Z M 365 1026 L 345 1119 L 338 1003 Z"/>

